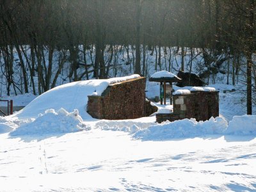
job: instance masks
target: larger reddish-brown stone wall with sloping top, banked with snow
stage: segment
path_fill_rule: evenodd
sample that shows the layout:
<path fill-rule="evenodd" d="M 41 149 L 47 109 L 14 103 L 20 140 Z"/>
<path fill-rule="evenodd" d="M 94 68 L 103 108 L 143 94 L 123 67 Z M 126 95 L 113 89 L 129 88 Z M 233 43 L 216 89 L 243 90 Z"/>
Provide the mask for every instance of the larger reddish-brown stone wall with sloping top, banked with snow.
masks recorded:
<path fill-rule="evenodd" d="M 140 118 L 155 111 L 145 102 L 146 78 L 110 84 L 100 96 L 88 96 L 87 112 L 93 118 L 120 120 Z M 146 106 L 147 111 L 146 112 Z M 154 113 L 154 112 L 153 112 Z"/>

